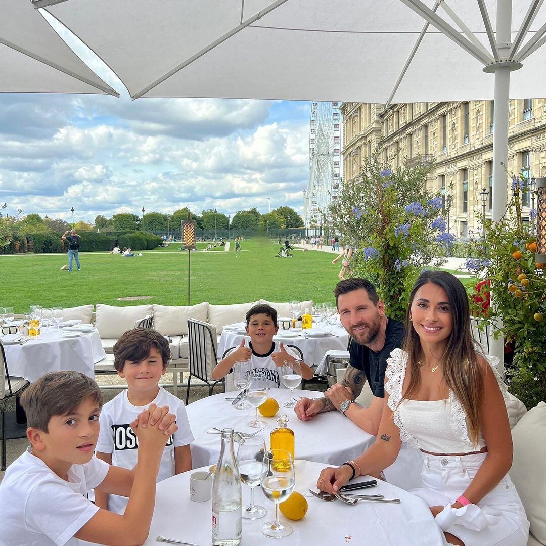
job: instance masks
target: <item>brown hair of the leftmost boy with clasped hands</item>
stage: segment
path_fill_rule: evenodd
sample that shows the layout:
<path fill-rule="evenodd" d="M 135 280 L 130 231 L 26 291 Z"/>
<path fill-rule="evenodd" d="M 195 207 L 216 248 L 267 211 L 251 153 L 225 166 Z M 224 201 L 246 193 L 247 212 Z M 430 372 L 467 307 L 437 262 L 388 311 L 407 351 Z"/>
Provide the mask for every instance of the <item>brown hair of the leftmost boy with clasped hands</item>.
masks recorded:
<path fill-rule="evenodd" d="M 75 412 L 89 397 L 102 408 L 102 393 L 91 377 L 74 371 L 49 372 L 23 392 L 21 405 L 27 414 L 28 426 L 48 432 L 52 417 Z"/>

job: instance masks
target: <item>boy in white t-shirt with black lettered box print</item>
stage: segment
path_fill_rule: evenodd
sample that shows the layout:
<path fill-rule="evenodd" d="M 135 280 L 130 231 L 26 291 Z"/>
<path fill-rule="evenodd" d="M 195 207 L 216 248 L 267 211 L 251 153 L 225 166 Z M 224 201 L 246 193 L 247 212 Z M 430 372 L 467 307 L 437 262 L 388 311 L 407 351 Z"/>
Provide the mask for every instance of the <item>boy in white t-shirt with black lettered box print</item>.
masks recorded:
<path fill-rule="evenodd" d="M 133 468 L 136 464 L 138 442 L 130 428 L 145 407 L 168 406 L 176 416 L 178 431 L 169 438 L 157 474 L 157 481 L 186 472 L 192 468 L 189 444 L 193 442 L 186 408 L 182 400 L 168 393 L 158 382 L 165 373 L 171 352 L 164 336 L 151 328 L 133 328 L 126 331 L 114 345 L 114 367 L 120 377 L 126 379 L 129 388 L 107 402 L 100 412 L 100 435 L 97 442 L 97 458 L 121 466 Z M 105 495 L 97 491 L 95 502 L 100 508 L 121 512 L 127 499 Z"/>

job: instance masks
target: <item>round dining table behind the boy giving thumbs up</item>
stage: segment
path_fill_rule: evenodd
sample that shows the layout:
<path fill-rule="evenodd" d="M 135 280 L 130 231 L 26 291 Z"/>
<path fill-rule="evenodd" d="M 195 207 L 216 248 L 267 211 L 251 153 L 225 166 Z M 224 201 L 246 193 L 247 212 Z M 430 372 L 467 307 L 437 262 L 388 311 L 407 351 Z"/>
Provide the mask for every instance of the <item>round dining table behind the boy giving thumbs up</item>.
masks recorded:
<path fill-rule="evenodd" d="M 310 330 L 293 331 L 279 329 L 274 341 L 282 341 L 284 345 L 295 345 L 304 355 L 306 364 L 319 364 L 327 351 L 345 351 L 349 343 L 349 334 L 345 328 L 335 323 L 330 333 L 329 327 L 318 327 Z M 314 337 L 316 335 L 317 337 Z M 237 347 L 241 340 L 250 340 L 246 335 L 244 323 L 224 326 L 218 342 L 218 357 L 222 358 L 227 349 Z"/>

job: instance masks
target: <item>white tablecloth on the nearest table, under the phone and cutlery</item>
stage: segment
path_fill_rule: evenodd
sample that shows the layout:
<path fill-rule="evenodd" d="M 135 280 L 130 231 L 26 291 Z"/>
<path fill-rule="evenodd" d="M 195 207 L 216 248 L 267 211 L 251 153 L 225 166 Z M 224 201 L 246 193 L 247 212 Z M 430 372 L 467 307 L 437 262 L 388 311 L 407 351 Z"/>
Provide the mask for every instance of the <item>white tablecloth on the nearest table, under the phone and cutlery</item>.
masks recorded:
<path fill-rule="evenodd" d="M 303 460 L 296 461 L 296 487 L 301 494 L 316 489 L 319 473 L 325 465 Z M 195 465 L 194 465 L 195 467 Z M 201 470 L 205 470 L 204 468 Z M 145 546 L 156 546 L 158 535 L 174 540 L 191 542 L 202 546 L 211 544 L 211 501 L 189 500 L 189 474 L 178 474 L 157 484 L 156 505 L 153 512 L 150 534 Z M 362 476 L 359 481 L 370 477 Z M 325 502 L 319 498 L 307 498 L 308 511 L 300 521 L 288 521 L 293 527 L 292 535 L 279 541 L 282 546 L 361 546 L 386 544 L 404 546 L 443 546 L 443 533 L 436 524 L 426 503 L 420 498 L 378 481 L 376 487 L 366 489 L 370 494 L 382 494 L 385 498 L 400 498 L 398 504 L 359 502 L 349 506 L 340 501 Z M 242 501 L 248 503 L 250 489 L 242 486 Z M 254 501 L 268 509 L 264 518 L 242 520 L 242 546 L 268 546 L 275 544 L 262 535 L 262 526 L 275 517 L 275 505 L 266 500 L 258 486 Z"/>

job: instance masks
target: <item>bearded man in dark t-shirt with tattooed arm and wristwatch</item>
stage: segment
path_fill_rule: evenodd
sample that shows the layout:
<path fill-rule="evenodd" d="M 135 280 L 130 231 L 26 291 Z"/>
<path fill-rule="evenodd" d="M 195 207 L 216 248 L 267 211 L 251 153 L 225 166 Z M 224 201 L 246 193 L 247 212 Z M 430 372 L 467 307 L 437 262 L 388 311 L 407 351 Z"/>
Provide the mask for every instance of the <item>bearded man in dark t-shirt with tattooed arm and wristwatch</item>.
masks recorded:
<path fill-rule="evenodd" d="M 377 435 L 384 405 L 383 383 L 390 352 L 402 347 L 404 325 L 385 316 L 385 306 L 375 287 L 363 278 L 349 278 L 334 289 L 343 328 L 351 335 L 349 366 L 342 384 L 330 387 L 323 398 L 302 398 L 294 408 L 302 421 L 318 413 L 338 410 L 361 429 Z M 369 408 L 353 403 L 364 383 L 373 394 Z"/>

